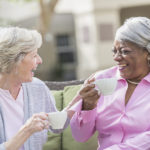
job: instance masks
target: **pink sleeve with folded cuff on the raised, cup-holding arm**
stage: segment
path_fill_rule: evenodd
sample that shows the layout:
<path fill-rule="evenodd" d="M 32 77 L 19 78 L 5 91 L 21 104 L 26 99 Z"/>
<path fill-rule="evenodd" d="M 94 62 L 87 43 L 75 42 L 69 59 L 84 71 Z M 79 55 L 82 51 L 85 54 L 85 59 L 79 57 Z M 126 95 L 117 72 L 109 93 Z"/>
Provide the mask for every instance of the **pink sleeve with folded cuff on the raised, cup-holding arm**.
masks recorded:
<path fill-rule="evenodd" d="M 89 111 L 81 111 L 82 100 L 73 107 L 76 112 L 70 121 L 72 136 L 79 142 L 85 142 L 95 132 L 96 108 Z"/>

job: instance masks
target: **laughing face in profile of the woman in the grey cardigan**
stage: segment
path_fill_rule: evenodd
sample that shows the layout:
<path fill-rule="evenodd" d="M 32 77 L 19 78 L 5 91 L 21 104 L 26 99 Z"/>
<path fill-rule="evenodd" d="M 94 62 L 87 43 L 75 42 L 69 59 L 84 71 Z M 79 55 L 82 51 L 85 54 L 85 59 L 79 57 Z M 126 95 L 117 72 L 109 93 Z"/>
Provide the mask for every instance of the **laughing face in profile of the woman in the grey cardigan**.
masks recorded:
<path fill-rule="evenodd" d="M 14 71 L 17 79 L 23 82 L 32 81 L 32 77 L 34 76 L 34 72 L 39 64 L 42 63 L 42 59 L 37 53 L 37 49 L 29 52 L 25 55 L 23 60 L 19 62 Z"/>

